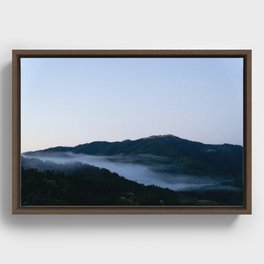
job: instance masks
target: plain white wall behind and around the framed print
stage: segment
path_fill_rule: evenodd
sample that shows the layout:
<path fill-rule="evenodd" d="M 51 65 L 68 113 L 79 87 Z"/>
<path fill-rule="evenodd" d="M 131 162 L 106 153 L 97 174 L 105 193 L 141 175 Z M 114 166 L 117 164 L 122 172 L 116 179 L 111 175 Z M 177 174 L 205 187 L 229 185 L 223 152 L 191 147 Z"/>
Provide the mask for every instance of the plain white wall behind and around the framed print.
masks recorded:
<path fill-rule="evenodd" d="M 262 2 L 1 0 L 0 262 L 263 263 Z M 253 215 L 12 216 L 13 48 L 253 49 Z"/>

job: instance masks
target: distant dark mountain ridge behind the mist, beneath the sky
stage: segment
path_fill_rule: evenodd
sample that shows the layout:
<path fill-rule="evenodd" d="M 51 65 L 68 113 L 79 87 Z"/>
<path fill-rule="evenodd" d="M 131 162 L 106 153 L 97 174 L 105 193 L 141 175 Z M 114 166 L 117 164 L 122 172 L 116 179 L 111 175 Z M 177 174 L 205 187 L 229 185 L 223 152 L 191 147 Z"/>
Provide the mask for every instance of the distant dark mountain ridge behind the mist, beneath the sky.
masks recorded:
<path fill-rule="evenodd" d="M 53 147 L 25 154 L 72 152 L 97 156 L 154 155 L 167 158 L 168 171 L 196 175 L 228 175 L 242 182 L 243 147 L 232 144 L 204 144 L 173 135 L 150 136 L 116 142 L 94 141 L 75 147 Z M 144 162 L 142 158 L 142 162 Z M 173 165 L 173 166 L 171 166 Z"/>

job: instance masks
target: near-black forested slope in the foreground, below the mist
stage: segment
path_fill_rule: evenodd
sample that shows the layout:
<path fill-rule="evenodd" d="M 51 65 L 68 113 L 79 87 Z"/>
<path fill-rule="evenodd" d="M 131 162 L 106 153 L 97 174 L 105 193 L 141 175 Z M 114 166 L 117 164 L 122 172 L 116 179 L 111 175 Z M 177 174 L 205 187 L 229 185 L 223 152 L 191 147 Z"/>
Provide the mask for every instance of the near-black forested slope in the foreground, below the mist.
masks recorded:
<path fill-rule="evenodd" d="M 241 205 L 242 191 L 176 192 L 145 186 L 94 166 L 22 167 L 22 205 Z"/>

